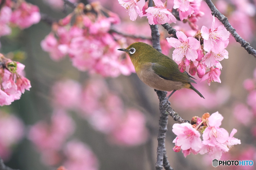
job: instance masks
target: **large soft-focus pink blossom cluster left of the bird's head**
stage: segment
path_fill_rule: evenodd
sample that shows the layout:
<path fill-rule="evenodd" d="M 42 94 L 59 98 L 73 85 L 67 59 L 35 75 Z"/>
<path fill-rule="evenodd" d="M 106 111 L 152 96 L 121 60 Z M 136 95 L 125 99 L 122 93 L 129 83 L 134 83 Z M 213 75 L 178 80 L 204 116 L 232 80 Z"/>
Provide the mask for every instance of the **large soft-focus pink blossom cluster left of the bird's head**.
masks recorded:
<path fill-rule="evenodd" d="M 52 32 L 41 42 L 41 47 L 55 61 L 68 55 L 80 71 L 111 77 L 130 75 L 134 72 L 130 59 L 123 58 L 116 50 L 124 41 L 110 33 L 111 25 L 119 22 L 118 15 L 98 2 L 86 6 L 80 3 L 71 14 L 52 25 Z"/>

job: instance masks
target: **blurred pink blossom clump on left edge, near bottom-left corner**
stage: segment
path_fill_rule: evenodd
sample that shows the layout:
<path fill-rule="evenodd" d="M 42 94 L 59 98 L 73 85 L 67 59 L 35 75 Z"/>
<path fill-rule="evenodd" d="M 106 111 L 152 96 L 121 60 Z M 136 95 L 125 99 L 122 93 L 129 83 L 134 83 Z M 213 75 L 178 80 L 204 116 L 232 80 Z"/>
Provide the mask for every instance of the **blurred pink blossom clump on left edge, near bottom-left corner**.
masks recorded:
<path fill-rule="evenodd" d="M 0 114 L 0 156 L 7 161 L 12 153 L 11 148 L 24 136 L 24 124 L 14 115 Z"/>

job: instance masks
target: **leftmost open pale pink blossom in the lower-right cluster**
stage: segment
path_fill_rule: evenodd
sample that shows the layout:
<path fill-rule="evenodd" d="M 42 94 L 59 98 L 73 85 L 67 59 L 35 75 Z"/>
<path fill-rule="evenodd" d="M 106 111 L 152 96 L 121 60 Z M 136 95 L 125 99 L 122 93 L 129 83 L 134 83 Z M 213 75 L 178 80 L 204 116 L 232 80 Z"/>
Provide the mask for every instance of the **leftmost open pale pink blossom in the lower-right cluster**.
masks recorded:
<path fill-rule="evenodd" d="M 200 133 L 189 123 L 174 124 L 173 130 L 177 137 L 174 139 L 175 145 L 182 150 L 192 149 L 198 152 L 201 148 Z"/>

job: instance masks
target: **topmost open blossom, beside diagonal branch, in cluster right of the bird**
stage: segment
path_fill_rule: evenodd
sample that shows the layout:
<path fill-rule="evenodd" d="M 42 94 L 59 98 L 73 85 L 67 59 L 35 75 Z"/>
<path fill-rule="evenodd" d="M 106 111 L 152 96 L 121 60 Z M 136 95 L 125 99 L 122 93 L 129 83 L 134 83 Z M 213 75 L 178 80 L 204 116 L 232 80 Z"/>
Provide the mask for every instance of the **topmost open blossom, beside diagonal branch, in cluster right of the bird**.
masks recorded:
<path fill-rule="evenodd" d="M 223 25 L 214 29 L 214 24 L 215 18 L 213 17 L 211 29 L 202 26 L 201 34 L 202 38 L 204 39 L 204 50 L 208 52 L 212 51 L 218 54 L 222 52 L 227 45 L 226 40 L 228 40 L 230 33 Z"/>

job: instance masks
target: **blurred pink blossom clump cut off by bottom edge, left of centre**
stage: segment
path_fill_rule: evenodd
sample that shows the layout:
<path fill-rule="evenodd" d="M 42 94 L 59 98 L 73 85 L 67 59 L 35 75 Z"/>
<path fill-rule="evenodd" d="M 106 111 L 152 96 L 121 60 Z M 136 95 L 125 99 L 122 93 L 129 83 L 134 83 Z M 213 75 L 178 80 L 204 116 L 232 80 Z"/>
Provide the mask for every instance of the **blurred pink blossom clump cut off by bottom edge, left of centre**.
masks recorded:
<path fill-rule="evenodd" d="M 91 151 L 91 149 L 78 140 L 69 141 L 63 149 L 67 160 L 64 162 L 64 166 L 68 170 L 99 169 L 98 159 Z"/>

